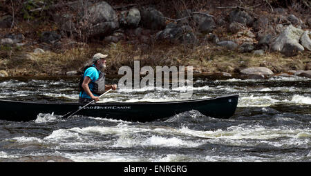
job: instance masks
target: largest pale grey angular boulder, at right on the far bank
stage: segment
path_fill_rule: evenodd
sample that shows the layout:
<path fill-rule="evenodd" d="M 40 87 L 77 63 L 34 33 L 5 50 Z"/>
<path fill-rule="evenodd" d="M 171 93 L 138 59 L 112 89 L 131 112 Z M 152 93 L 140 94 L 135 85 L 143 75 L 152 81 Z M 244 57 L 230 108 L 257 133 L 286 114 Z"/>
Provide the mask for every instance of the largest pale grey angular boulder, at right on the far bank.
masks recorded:
<path fill-rule="evenodd" d="M 298 51 L 304 50 L 303 46 L 299 43 L 301 35 L 303 35 L 303 30 L 290 25 L 272 41 L 270 47 L 272 50 L 280 51 L 285 55 L 290 54 L 292 51 L 296 55 Z M 292 56 L 292 54 L 289 56 Z"/>

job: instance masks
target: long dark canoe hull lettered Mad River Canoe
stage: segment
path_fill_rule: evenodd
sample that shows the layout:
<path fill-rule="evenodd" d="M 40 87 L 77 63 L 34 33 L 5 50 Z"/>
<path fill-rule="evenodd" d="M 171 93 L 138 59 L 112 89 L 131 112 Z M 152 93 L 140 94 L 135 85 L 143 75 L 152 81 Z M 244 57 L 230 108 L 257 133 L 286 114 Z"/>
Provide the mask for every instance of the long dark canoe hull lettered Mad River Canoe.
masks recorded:
<path fill-rule="evenodd" d="M 122 119 L 125 121 L 154 121 L 164 119 L 189 110 L 198 110 L 203 115 L 216 118 L 229 118 L 234 115 L 238 95 L 228 95 L 210 99 L 187 101 L 146 102 L 146 103 L 97 103 L 79 110 L 75 115 Z M 30 121 L 39 113 L 66 113 L 82 108 L 77 103 L 38 103 L 29 101 L 0 100 L 0 119 L 10 121 Z"/>

